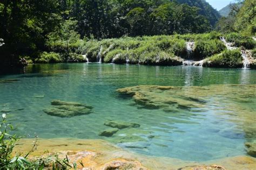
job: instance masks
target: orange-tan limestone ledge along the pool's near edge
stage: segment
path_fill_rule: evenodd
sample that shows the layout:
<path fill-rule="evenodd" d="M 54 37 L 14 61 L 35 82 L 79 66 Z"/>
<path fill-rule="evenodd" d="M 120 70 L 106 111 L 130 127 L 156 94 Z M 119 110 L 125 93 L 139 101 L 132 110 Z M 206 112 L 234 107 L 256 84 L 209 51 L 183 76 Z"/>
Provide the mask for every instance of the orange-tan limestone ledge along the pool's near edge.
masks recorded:
<path fill-rule="evenodd" d="M 33 139 L 22 139 L 16 147 L 16 153 L 25 153 L 31 148 Z M 46 152 L 45 152 L 46 151 Z M 238 156 L 205 162 L 184 161 L 166 157 L 150 157 L 123 150 L 104 140 L 84 139 L 39 139 L 38 147 L 31 154 L 35 157 L 48 157 L 58 154 L 59 158 L 66 155 L 72 162 L 77 162 L 78 169 L 253 169 L 256 158 Z M 84 167 L 79 164 L 82 161 Z"/>

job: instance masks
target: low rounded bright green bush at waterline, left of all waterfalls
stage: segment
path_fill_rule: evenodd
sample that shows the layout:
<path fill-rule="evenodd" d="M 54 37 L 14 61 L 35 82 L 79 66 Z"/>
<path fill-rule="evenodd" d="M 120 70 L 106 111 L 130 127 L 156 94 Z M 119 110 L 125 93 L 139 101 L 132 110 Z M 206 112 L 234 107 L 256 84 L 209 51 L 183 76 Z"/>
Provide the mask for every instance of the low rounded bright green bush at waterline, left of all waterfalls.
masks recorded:
<path fill-rule="evenodd" d="M 63 62 L 63 59 L 60 57 L 58 53 L 53 52 L 43 52 L 41 56 L 35 60 L 37 63 L 57 63 Z"/>

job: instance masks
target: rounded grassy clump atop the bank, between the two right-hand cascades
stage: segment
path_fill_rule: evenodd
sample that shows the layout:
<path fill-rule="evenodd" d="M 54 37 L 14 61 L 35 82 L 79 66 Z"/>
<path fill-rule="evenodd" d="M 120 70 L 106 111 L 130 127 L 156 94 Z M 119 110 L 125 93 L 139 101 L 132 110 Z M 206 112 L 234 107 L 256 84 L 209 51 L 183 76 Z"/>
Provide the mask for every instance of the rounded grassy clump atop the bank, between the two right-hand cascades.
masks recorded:
<path fill-rule="evenodd" d="M 206 58 L 214 54 L 219 54 L 225 49 L 225 45 L 220 40 L 198 40 L 196 41 L 195 55 L 199 58 Z"/>

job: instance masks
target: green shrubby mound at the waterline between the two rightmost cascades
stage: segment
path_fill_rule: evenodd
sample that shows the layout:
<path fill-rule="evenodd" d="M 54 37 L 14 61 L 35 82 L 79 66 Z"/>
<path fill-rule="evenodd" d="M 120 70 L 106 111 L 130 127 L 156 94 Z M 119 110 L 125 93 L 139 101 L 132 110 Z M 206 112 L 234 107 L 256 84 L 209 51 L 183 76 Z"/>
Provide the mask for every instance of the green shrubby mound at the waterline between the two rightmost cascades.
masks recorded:
<path fill-rule="evenodd" d="M 225 50 L 223 53 L 211 56 L 209 66 L 238 68 L 242 66 L 242 56 L 239 49 Z"/>

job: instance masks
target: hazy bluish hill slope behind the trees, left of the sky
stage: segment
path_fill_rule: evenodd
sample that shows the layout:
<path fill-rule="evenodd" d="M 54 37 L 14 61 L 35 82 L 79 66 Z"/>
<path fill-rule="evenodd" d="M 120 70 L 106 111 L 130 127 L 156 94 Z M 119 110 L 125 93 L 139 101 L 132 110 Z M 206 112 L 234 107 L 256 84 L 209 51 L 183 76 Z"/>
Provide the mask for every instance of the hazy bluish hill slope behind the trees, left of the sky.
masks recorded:
<path fill-rule="evenodd" d="M 190 6 L 197 6 L 200 9 L 199 14 L 205 16 L 212 26 L 214 26 L 221 17 L 219 12 L 205 0 L 177 0 L 177 2 L 181 4 L 186 3 Z"/>

